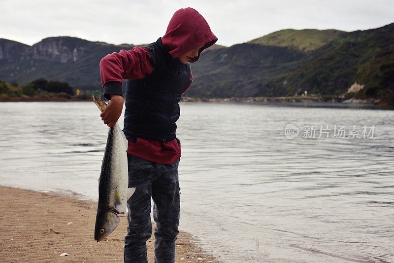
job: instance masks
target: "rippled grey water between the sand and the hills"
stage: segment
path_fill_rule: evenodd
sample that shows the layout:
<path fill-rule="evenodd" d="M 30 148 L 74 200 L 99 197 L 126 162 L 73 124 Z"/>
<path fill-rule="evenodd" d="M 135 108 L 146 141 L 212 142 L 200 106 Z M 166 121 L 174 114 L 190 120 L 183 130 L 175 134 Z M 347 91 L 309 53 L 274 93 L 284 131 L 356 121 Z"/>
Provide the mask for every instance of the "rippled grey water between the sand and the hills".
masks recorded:
<path fill-rule="evenodd" d="M 223 262 L 394 262 L 394 112 L 300 106 L 181 105 L 180 228 Z M 0 114 L 0 185 L 98 199 L 107 127 L 93 102 Z M 375 127 L 306 139 L 307 124 Z"/>

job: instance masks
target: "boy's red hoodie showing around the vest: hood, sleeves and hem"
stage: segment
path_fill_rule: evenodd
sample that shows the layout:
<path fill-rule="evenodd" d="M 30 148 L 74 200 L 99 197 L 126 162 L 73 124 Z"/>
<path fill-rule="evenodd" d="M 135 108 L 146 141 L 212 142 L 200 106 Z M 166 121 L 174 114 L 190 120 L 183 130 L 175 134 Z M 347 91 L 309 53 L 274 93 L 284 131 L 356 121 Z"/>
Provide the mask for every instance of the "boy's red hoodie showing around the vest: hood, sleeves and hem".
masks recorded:
<path fill-rule="evenodd" d="M 204 44 L 199 49 L 198 56 L 189 62 L 196 62 L 201 52 L 217 40 L 205 19 L 190 7 L 174 13 L 162 37 L 165 48 L 174 59 Z M 152 73 L 150 58 L 150 53 L 143 47 L 121 50 L 105 56 L 100 61 L 103 96 L 107 99 L 110 99 L 111 94 L 123 96 L 123 79 L 141 79 Z M 193 80 L 192 74 L 190 78 Z M 185 87 L 182 94 L 189 87 Z M 181 146 L 177 140 L 161 142 L 137 137 L 135 143 L 129 141 L 128 153 L 149 161 L 171 164 L 181 157 Z"/>

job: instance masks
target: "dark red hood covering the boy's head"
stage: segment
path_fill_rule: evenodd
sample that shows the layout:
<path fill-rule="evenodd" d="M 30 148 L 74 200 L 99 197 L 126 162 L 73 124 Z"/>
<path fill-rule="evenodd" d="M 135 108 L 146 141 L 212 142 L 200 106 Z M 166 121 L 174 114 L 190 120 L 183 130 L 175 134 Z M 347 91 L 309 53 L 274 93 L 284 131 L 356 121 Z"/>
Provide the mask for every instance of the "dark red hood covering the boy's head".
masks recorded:
<path fill-rule="evenodd" d="M 174 13 L 162 37 L 164 46 L 173 58 L 204 44 L 199 49 L 198 56 L 189 62 L 196 62 L 202 50 L 210 47 L 217 40 L 202 15 L 190 7 L 179 9 Z"/>

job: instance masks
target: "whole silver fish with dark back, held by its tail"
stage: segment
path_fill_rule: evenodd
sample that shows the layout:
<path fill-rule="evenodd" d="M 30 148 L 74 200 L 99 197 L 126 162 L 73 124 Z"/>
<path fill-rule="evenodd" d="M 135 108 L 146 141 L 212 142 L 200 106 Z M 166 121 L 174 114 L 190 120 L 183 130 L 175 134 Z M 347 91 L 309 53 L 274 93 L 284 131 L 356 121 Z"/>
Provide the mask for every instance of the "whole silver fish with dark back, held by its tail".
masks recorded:
<path fill-rule="evenodd" d="M 103 112 L 107 107 L 93 95 L 93 101 Z M 99 203 L 95 225 L 95 240 L 100 242 L 120 224 L 119 215 L 126 213 L 127 200 L 135 188 L 128 188 L 127 139 L 116 123 L 109 128 L 107 144 L 99 176 Z"/>

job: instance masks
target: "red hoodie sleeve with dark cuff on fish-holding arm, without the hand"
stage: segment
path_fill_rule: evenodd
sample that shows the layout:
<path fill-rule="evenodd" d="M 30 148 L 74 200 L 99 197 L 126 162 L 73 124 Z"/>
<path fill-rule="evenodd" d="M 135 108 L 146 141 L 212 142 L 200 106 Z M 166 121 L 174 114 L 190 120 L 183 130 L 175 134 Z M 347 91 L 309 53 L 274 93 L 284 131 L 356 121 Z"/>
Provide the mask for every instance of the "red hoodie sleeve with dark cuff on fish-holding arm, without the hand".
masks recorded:
<path fill-rule="evenodd" d="M 100 61 L 100 75 L 104 98 L 109 100 L 111 94 L 123 96 L 123 79 L 140 79 L 152 73 L 150 59 L 150 53 L 143 47 L 121 50 L 103 57 Z"/>

